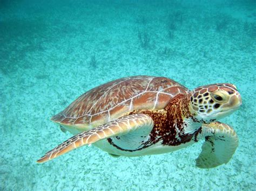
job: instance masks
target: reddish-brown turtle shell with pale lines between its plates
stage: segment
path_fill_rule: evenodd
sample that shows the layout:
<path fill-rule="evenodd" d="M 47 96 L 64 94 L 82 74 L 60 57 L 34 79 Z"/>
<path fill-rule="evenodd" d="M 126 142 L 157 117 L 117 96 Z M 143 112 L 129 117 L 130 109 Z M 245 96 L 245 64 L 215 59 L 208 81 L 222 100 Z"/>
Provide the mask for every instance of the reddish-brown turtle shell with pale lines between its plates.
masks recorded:
<path fill-rule="evenodd" d="M 188 91 L 166 77 L 124 77 L 87 91 L 51 120 L 63 126 L 98 126 L 133 110 L 163 109 Z"/>

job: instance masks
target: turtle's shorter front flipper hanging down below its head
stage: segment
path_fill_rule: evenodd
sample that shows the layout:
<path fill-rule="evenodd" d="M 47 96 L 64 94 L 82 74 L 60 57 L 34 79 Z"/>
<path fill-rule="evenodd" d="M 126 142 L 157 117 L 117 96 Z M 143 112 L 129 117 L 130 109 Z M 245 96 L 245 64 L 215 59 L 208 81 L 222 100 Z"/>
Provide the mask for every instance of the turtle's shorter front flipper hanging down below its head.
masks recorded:
<path fill-rule="evenodd" d="M 201 136 L 205 137 L 205 143 L 196 159 L 199 168 L 213 168 L 226 164 L 238 147 L 237 133 L 224 123 L 204 124 Z"/>

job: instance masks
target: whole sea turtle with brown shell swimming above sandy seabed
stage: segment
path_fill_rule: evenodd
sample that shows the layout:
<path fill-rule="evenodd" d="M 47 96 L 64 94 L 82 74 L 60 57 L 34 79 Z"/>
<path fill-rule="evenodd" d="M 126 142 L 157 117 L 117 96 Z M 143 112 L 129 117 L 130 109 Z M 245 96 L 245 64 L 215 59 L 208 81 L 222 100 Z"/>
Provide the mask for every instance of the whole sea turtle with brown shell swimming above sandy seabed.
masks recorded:
<path fill-rule="evenodd" d="M 47 152 L 45 162 L 93 144 L 113 157 L 160 154 L 204 138 L 196 166 L 226 164 L 238 146 L 231 126 L 217 122 L 241 105 L 231 83 L 192 91 L 166 77 L 124 77 L 87 91 L 51 120 L 75 134 Z"/>

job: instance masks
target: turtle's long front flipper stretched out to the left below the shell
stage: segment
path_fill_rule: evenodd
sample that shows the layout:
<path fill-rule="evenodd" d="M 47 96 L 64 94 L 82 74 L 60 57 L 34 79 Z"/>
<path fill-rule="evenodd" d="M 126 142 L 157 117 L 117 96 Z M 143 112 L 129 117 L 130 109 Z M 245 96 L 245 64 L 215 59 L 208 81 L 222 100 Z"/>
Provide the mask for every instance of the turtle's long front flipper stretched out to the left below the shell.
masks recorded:
<path fill-rule="evenodd" d="M 141 133 L 149 134 L 152 128 L 153 120 L 145 114 L 125 116 L 71 137 L 53 148 L 53 150 L 47 152 L 41 159 L 37 160 L 37 162 L 46 162 L 77 147 L 92 144 L 98 140 L 122 136 L 136 131 L 143 131 Z"/>

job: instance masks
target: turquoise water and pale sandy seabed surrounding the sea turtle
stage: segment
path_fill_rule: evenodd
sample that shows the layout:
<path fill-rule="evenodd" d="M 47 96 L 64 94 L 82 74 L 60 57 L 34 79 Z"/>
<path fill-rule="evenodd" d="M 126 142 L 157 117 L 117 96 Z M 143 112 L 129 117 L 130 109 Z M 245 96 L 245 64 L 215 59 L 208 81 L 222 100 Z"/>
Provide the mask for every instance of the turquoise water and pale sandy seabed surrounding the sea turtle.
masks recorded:
<path fill-rule="evenodd" d="M 255 190 L 255 1 L 0 1 L 1 190 Z M 242 107 L 221 122 L 239 147 L 212 169 L 203 142 L 173 153 L 112 158 L 84 146 L 36 160 L 71 137 L 50 122 L 76 97 L 132 75 L 194 89 L 235 84 Z"/>

